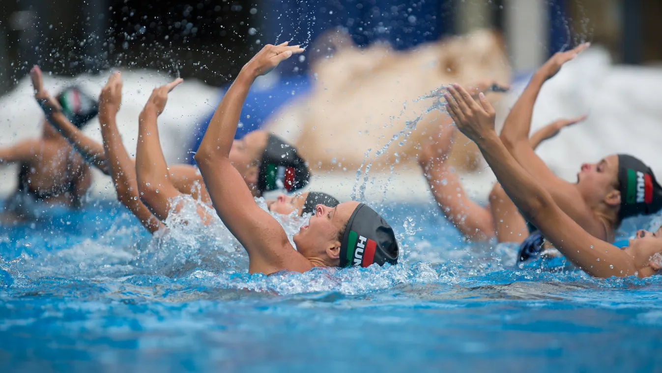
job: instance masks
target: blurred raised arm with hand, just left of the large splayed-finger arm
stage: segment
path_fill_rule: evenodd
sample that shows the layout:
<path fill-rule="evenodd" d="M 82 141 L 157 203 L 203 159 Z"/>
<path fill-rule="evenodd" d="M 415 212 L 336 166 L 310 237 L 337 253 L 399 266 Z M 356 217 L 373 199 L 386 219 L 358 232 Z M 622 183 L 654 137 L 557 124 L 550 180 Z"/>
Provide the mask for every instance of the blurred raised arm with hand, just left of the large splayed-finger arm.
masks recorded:
<path fill-rule="evenodd" d="M 449 123 L 441 125 L 437 133 L 422 142 L 418 164 L 446 219 L 465 237 L 487 240 L 495 235 L 490 211 L 467 197 L 459 177 L 446 164 L 454 132 L 455 127 Z"/>

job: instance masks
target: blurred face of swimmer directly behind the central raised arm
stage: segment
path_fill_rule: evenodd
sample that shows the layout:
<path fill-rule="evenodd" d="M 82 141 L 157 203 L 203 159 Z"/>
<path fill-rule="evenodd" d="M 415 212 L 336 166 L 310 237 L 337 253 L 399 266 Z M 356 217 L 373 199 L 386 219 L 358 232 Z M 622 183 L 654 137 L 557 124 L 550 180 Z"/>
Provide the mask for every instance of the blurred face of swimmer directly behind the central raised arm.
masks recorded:
<path fill-rule="evenodd" d="M 265 131 L 253 131 L 239 140 L 234 140 L 230 148 L 230 163 L 251 189 L 258 186 L 258 168 L 268 136 Z"/>

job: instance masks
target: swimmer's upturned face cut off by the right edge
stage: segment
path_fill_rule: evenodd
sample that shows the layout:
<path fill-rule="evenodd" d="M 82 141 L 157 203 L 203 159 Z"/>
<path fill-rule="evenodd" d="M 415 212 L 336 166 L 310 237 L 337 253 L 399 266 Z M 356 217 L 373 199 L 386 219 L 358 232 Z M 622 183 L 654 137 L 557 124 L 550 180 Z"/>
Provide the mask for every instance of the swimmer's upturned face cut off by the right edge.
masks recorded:
<path fill-rule="evenodd" d="M 632 255 L 640 276 L 655 274 L 662 268 L 662 227 L 655 232 L 640 229 L 624 250 Z"/>

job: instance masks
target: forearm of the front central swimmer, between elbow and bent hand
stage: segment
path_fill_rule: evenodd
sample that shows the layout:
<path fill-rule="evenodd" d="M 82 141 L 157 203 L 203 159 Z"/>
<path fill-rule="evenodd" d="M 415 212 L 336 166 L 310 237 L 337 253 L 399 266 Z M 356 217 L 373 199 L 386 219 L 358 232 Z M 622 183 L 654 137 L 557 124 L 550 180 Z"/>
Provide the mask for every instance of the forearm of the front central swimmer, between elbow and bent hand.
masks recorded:
<path fill-rule="evenodd" d="M 228 157 L 244 101 L 246 101 L 246 96 L 254 80 L 254 74 L 249 70 L 242 69 L 239 73 L 209 122 L 209 127 L 207 127 L 207 132 L 195 157 L 197 161 L 204 163 L 205 159 L 215 160 Z"/>

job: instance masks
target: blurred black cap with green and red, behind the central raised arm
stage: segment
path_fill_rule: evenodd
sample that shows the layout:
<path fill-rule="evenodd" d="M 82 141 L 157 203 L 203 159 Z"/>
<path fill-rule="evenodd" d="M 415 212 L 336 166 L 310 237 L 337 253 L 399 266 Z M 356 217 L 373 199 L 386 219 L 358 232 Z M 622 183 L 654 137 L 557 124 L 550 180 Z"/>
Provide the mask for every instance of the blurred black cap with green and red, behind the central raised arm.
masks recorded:
<path fill-rule="evenodd" d="M 277 189 L 295 191 L 307 186 L 308 181 L 310 171 L 306 162 L 297 154 L 297 148 L 275 134 L 269 134 L 258 175 L 260 193 Z"/>

